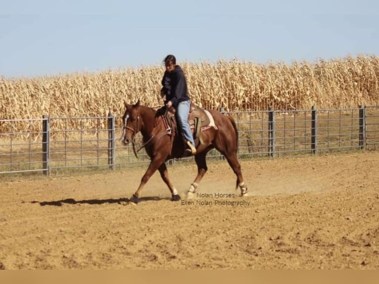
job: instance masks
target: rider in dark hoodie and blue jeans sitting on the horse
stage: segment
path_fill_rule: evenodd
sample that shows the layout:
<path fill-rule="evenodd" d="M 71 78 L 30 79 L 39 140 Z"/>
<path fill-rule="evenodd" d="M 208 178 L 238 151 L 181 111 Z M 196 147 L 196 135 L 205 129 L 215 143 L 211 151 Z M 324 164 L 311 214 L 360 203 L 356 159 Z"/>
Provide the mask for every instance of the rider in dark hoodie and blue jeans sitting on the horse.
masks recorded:
<path fill-rule="evenodd" d="M 193 141 L 190 124 L 188 123 L 188 115 L 190 113 L 190 97 L 187 92 L 187 81 L 183 70 L 176 65 L 176 58 L 169 54 L 163 60 L 166 71 L 162 78 L 161 96 L 166 96 L 166 107 L 173 106 L 176 110 L 176 119 L 182 130 L 182 134 L 187 141 L 188 149 L 186 154 L 196 154 L 195 143 Z"/>

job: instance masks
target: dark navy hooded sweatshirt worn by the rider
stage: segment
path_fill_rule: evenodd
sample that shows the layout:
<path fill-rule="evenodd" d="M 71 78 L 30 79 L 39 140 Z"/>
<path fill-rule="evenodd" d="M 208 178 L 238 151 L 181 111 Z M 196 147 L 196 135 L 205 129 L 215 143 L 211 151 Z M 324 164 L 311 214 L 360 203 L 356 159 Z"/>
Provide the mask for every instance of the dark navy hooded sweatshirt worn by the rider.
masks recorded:
<path fill-rule="evenodd" d="M 162 92 L 166 95 L 165 104 L 171 100 L 173 106 L 176 107 L 179 102 L 190 99 L 186 77 L 179 65 L 175 65 L 172 72 L 164 72 L 162 86 Z"/>

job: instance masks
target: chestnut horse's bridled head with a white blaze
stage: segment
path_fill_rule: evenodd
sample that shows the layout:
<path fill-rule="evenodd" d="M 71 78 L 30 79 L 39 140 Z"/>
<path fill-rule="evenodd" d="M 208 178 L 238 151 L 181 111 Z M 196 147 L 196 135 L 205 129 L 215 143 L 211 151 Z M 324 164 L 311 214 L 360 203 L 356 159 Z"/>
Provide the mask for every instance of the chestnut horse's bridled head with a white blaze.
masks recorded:
<path fill-rule="evenodd" d="M 128 145 L 133 141 L 135 135 L 141 131 L 141 117 L 140 117 L 140 100 L 136 104 L 128 104 L 124 101 L 125 113 L 122 117 L 124 123 L 124 130 L 122 132 L 121 141 Z"/>

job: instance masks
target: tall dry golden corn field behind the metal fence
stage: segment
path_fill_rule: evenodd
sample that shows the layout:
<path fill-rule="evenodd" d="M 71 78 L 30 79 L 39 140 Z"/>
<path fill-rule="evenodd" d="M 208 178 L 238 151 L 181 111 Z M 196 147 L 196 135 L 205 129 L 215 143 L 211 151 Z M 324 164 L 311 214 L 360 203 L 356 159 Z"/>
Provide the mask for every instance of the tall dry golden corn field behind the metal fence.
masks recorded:
<path fill-rule="evenodd" d="M 207 109 L 348 108 L 379 104 L 379 57 L 257 64 L 238 60 L 179 62 L 191 100 Z M 123 100 L 162 105 L 164 67 L 0 79 L 0 120 L 121 115 Z M 1 125 L 0 125 L 1 132 Z"/>

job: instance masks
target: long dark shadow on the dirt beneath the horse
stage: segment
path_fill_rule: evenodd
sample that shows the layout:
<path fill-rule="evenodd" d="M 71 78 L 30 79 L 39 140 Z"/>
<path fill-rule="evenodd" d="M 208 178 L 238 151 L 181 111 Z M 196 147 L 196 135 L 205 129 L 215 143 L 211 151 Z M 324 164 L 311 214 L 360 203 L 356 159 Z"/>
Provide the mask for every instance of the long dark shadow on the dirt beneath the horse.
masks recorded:
<path fill-rule="evenodd" d="M 141 197 L 139 202 L 144 201 L 158 201 L 158 200 L 171 200 L 170 197 L 158 197 L 158 196 L 146 196 Z M 125 203 L 129 203 L 129 198 L 118 198 L 118 199 L 87 199 L 87 200 L 75 200 L 74 198 L 67 198 L 55 201 L 30 201 L 30 203 L 39 203 L 41 206 L 62 206 L 63 204 L 91 204 L 91 205 L 99 205 L 104 203 L 118 203 L 121 205 L 125 205 Z"/>

